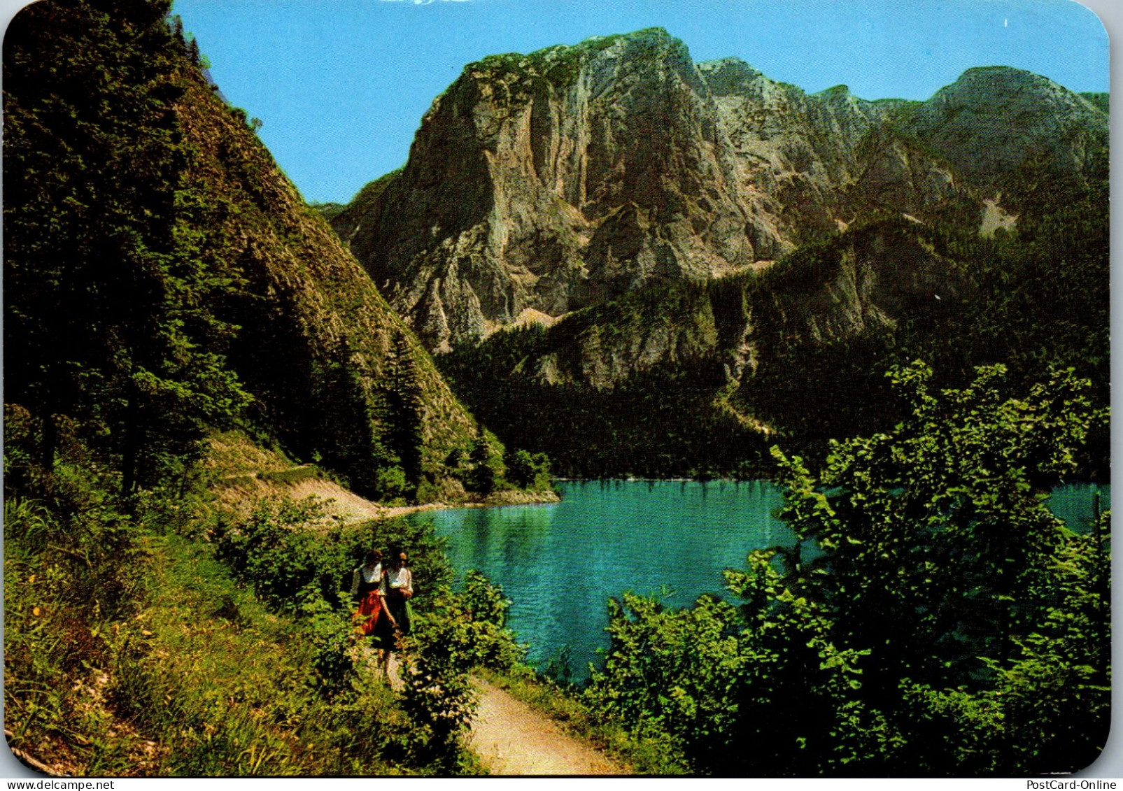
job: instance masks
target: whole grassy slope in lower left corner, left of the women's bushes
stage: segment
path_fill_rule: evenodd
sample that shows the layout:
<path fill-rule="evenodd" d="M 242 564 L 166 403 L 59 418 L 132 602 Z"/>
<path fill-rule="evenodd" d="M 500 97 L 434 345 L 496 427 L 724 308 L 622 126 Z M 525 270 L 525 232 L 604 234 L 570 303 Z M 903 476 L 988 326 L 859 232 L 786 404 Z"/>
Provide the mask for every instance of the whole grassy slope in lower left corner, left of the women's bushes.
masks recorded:
<path fill-rule="evenodd" d="M 88 525 L 99 521 L 86 516 Z M 100 518 L 94 530 L 121 539 L 116 570 L 111 559 L 91 557 L 82 537 L 62 535 L 46 511 L 7 503 L 4 698 L 13 747 L 77 775 L 407 771 L 400 758 L 410 724 L 369 669 L 360 665 L 345 693 L 325 697 L 307 627 L 266 611 L 210 544 Z M 46 551 L 28 545 L 36 536 L 51 539 Z M 89 561 L 100 580 L 74 568 Z M 97 606 L 110 589 L 117 607 Z M 385 757 L 395 749 L 398 760 Z"/>

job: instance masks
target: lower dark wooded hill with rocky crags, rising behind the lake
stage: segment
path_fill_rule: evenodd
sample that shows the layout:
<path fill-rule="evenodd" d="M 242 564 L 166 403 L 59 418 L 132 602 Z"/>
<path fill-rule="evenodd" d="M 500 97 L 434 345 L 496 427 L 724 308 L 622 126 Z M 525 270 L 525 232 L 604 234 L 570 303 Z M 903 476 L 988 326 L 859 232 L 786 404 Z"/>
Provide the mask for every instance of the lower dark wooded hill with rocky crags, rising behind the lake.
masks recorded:
<path fill-rule="evenodd" d="M 759 475 L 779 435 L 813 442 L 809 429 L 847 435 L 888 414 L 874 357 L 938 335 L 974 296 L 944 249 L 903 218 L 864 222 L 760 274 L 651 286 L 438 362 L 504 442 L 563 475 Z"/>

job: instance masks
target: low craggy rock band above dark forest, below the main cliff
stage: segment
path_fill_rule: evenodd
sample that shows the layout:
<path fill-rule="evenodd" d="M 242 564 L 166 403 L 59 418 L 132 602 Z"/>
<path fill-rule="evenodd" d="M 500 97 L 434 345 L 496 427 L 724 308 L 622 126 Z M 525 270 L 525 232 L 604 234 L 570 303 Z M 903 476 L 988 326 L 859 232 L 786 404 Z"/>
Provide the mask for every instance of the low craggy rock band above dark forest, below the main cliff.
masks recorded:
<path fill-rule="evenodd" d="M 568 316 L 522 370 L 544 384 L 606 388 L 657 366 L 711 360 L 736 384 L 777 348 L 893 329 L 971 289 L 967 273 L 910 224 L 843 233 L 764 275 L 674 284 Z"/>

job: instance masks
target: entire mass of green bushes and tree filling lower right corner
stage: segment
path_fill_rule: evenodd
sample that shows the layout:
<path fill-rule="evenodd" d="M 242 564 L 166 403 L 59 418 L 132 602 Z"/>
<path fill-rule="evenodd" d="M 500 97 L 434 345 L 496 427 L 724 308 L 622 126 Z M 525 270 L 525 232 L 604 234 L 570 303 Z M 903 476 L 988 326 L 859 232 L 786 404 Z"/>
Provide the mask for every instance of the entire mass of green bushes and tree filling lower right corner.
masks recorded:
<path fill-rule="evenodd" d="M 910 414 L 832 443 L 820 475 L 775 451 L 794 548 L 728 571 L 740 606 L 626 596 L 586 690 L 669 735 L 701 773 L 1032 774 L 1096 758 L 1110 705 L 1108 519 L 1048 509 L 1104 413 L 1060 372 L 1025 398 L 1001 367 L 942 394 L 893 372 Z"/>

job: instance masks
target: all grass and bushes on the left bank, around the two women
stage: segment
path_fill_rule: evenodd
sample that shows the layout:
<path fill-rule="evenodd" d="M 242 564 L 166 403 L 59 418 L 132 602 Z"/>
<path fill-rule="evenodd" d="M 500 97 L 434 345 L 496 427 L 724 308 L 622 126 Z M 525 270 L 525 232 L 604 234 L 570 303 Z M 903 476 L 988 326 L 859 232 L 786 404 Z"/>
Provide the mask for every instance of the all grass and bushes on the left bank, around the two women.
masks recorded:
<path fill-rule="evenodd" d="M 316 503 L 286 500 L 201 519 L 198 499 L 167 490 L 124 513 L 116 475 L 71 456 L 35 469 L 34 440 L 20 439 L 4 459 L 16 749 L 76 775 L 478 771 L 462 743 L 467 673 L 510 670 L 522 650 L 503 628 L 502 591 L 478 576 L 448 588 L 431 528 L 340 527 Z M 372 545 L 408 548 L 414 568 L 402 692 L 351 631 L 349 571 Z"/>

